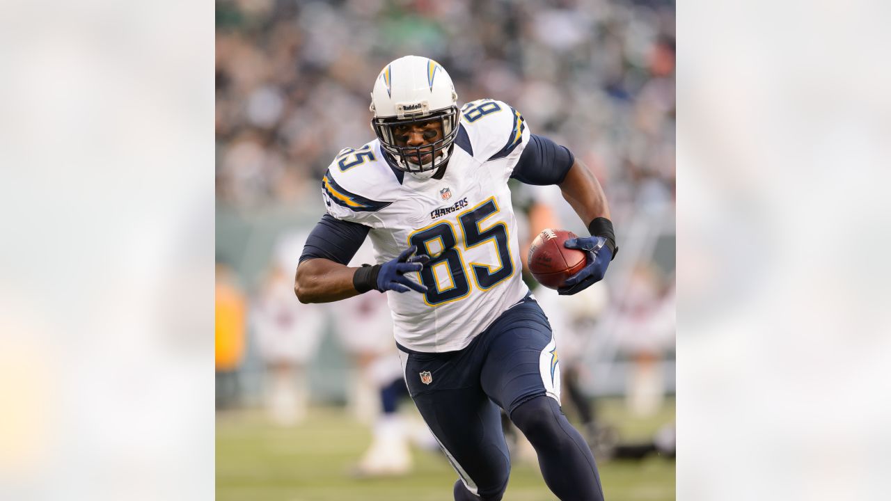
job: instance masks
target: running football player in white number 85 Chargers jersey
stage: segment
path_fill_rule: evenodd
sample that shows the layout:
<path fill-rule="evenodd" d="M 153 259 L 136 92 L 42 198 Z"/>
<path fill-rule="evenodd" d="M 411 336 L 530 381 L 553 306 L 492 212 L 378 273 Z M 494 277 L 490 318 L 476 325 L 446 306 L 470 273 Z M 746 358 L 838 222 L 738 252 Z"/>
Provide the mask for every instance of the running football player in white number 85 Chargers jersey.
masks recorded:
<path fill-rule="evenodd" d="M 377 138 L 339 152 L 323 176 L 327 214 L 300 256 L 298 299 L 387 292 L 409 393 L 459 475 L 454 499 L 503 497 L 511 465 L 498 407 L 557 497 L 603 499 L 591 451 L 560 412 L 557 347 L 520 278 L 507 181 L 559 185 L 592 235 L 565 243 L 587 265 L 560 294 L 600 281 L 616 255 L 601 186 L 509 104 L 459 109 L 446 70 L 424 57 L 380 72 L 371 111 Z M 366 236 L 376 264 L 347 267 Z"/>

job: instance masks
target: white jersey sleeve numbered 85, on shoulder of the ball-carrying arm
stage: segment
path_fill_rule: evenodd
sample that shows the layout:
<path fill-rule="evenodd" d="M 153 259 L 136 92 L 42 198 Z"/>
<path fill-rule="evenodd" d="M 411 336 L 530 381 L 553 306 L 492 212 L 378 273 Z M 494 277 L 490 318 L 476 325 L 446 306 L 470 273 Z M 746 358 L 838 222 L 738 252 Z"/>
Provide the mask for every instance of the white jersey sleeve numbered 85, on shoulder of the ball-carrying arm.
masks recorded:
<path fill-rule="evenodd" d="M 480 99 L 462 107 L 462 126 L 467 131 L 472 156 L 499 171 L 507 180 L 519 161 L 531 131 L 523 115 L 503 101 Z"/>

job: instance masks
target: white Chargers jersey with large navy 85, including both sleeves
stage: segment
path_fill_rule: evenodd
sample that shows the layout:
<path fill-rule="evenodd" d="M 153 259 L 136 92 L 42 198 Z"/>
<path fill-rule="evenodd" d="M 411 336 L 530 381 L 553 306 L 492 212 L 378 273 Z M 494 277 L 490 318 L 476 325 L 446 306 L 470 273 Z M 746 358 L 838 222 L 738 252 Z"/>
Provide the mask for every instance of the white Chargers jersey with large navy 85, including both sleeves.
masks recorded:
<path fill-rule="evenodd" d="M 440 180 L 392 168 L 377 139 L 341 151 L 325 173 L 328 213 L 372 228 L 377 263 L 411 245 L 430 256 L 408 275 L 428 292 L 387 292 L 396 341 L 405 348 L 462 349 L 529 292 L 507 185 L 529 136 L 518 111 L 483 99 L 463 106 Z"/>

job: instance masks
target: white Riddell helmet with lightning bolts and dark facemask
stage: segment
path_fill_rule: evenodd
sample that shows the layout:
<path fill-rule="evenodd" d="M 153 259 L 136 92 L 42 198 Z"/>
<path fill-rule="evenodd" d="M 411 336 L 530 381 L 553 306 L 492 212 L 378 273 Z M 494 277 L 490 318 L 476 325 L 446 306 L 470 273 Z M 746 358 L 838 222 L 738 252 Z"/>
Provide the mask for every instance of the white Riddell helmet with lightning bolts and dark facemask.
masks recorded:
<path fill-rule="evenodd" d="M 380 71 L 372 90 L 372 129 L 380 146 L 395 157 L 397 168 L 417 177 L 431 177 L 445 164 L 458 135 L 461 115 L 457 99 L 452 78 L 438 62 L 426 57 L 406 55 Z M 430 119 L 441 121 L 442 139 L 425 146 L 396 144 L 394 127 Z M 431 146 L 431 159 L 421 162 Z"/>

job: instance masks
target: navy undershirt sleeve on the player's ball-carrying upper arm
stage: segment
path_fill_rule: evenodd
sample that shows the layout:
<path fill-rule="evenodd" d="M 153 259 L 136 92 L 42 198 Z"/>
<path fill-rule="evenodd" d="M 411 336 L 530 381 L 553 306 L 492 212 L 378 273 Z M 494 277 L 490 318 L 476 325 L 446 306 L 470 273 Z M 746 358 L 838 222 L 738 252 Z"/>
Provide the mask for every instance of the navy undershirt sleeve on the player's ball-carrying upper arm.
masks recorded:
<path fill-rule="evenodd" d="M 560 185 L 575 162 L 576 157 L 566 146 L 533 134 L 511 177 L 527 185 Z"/>

